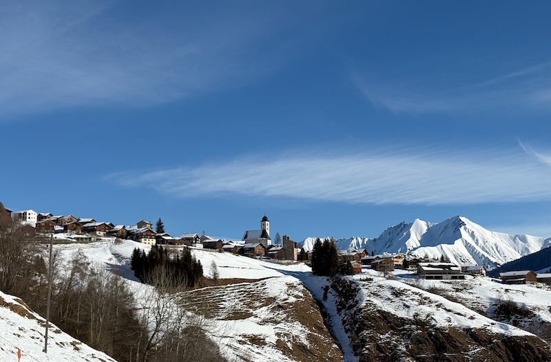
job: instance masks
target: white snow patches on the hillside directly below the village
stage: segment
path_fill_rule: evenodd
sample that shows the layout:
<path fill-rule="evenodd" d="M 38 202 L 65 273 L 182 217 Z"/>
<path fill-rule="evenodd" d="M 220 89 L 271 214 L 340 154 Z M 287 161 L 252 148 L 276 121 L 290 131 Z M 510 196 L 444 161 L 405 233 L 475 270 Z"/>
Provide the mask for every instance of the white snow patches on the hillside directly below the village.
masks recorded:
<path fill-rule="evenodd" d="M 104 239 L 101 242 L 90 244 L 58 244 L 56 251 L 63 259 L 70 259 L 72 253 L 81 250 L 95 263 L 104 264 L 107 268 L 120 273 L 128 279 L 129 286 L 140 295 L 147 292 L 129 270 L 129 259 L 134 248 L 148 250 L 150 247 L 137 242 L 126 240 L 114 242 L 114 239 Z M 204 274 L 211 276 L 211 263 L 216 263 L 220 279 L 265 279 L 254 282 L 254 288 L 260 288 L 260 297 L 252 300 L 270 298 L 274 303 L 289 304 L 293 298 L 295 287 L 304 285 L 318 301 L 322 301 L 326 312 L 331 316 L 330 323 L 333 334 L 338 339 L 344 355 L 344 361 L 355 362 L 348 334 L 344 332 L 342 322 L 337 314 L 334 296 L 330 290 L 326 301 L 323 301 L 324 287 L 329 281 L 324 277 L 311 274 L 311 269 L 304 264 L 278 264 L 267 260 L 253 259 L 230 253 L 218 253 L 199 248 L 192 248 L 194 255 L 200 260 Z M 426 281 L 417 279 L 416 275 L 405 270 L 396 270 L 394 279 L 386 279 L 375 270 L 365 268 L 364 273 L 352 277 L 360 282 L 363 296 L 360 302 L 372 304 L 383 310 L 388 310 L 399 317 L 423 318 L 432 321 L 434 326 L 458 328 L 485 328 L 489 331 L 505 335 L 530 334 L 519 328 L 505 323 L 499 323 L 484 317 L 475 310 L 484 312 L 499 296 L 508 298 L 519 304 L 534 306 L 541 310 L 541 316 L 551 321 L 551 291 L 547 288 L 534 286 L 510 286 L 499 284 L 490 278 L 470 278 L 465 281 Z M 362 282 L 362 279 L 370 281 Z M 247 302 L 240 299 L 240 295 L 248 290 L 251 283 L 233 284 L 225 287 L 212 287 L 225 294 L 215 297 L 220 307 L 236 306 L 236 303 Z M 260 286 L 260 287 L 259 287 Z M 439 295 L 425 291 L 431 287 L 447 288 L 455 293 L 461 304 L 455 303 Z M 205 288 L 208 289 L 208 288 Z M 245 290 L 245 291 L 244 291 Z M 251 293 L 253 293 L 251 291 Z M 246 295 L 246 292 L 245 292 Z M 397 295 L 399 297 L 397 297 Z M 368 297 L 369 296 L 369 297 Z M 470 305 L 470 304 L 471 305 Z M 462 305 L 463 304 L 463 305 Z M 465 305 L 465 306 L 464 306 Z M 468 306 L 469 308 L 467 308 Z M 222 350 L 231 352 L 238 359 L 247 359 L 247 355 L 254 355 L 255 361 L 290 361 L 287 356 L 275 348 L 276 336 L 285 335 L 304 338 L 307 333 L 303 326 L 293 321 L 284 321 L 281 315 L 271 306 L 257 306 L 258 315 L 225 319 L 220 316 L 211 317 L 211 335 L 219 343 Z M 485 309 L 486 308 L 486 309 Z M 247 310 L 247 308 L 244 308 Z M 216 332 L 222 331 L 222 332 Z M 302 337 L 301 337 L 302 336 Z M 294 338 L 294 337 L 293 337 Z M 262 341 L 262 343 L 254 342 Z M 236 341 L 238 343 L 236 344 Z M 253 341 L 253 342 L 251 342 Z M 306 344 L 307 341 L 304 341 Z"/>

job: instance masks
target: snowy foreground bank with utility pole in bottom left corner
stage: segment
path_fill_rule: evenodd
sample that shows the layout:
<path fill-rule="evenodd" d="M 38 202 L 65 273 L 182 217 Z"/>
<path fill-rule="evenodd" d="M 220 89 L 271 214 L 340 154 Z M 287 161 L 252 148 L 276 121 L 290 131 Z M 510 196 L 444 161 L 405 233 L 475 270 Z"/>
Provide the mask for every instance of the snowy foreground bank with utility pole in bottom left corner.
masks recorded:
<path fill-rule="evenodd" d="M 110 356 L 90 348 L 50 324 L 48 353 L 44 353 L 45 319 L 20 303 L 20 299 L 0 292 L 0 361 L 30 362 L 115 362 Z"/>

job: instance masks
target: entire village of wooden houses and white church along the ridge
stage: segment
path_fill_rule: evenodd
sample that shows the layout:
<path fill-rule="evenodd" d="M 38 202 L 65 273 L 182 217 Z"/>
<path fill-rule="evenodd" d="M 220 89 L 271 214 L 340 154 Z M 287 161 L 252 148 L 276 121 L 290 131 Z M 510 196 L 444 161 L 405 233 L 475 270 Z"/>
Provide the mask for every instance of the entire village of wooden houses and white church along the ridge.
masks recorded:
<path fill-rule="evenodd" d="M 1 203 L 0 203 L 1 205 Z M 152 222 L 141 220 L 136 225 L 113 224 L 98 222 L 92 217 L 75 217 L 74 215 L 53 215 L 52 213 L 37 213 L 33 210 L 13 212 L 1 208 L 7 217 L 23 226 L 28 236 L 52 236 L 56 240 L 64 239 L 72 242 L 95 242 L 103 237 L 131 239 L 147 245 L 188 246 L 192 248 L 211 249 L 213 251 L 233 253 L 246 257 L 273 259 L 288 262 L 305 262 L 312 260 L 313 251 L 298 248 L 288 235 L 276 235 L 272 241 L 270 222 L 266 215 L 260 220 L 260 229 L 247 230 L 242 240 L 214 239 L 198 233 L 183 233 L 177 237 L 164 231 L 160 219 L 156 230 Z M 160 226 L 160 227 L 159 227 Z M 160 229 L 160 230 L 159 230 Z M 159 231 L 159 232 L 158 232 Z M 337 251 L 341 266 L 349 266 L 351 273 L 362 273 L 363 268 L 371 268 L 382 273 L 395 269 L 416 271 L 419 278 L 432 280 L 464 280 L 466 275 L 486 276 L 486 267 L 479 265 L 455 265 L 441 259 L 409 257 L 401 253 L 379 254 L 368 253 L 366 249 Z M 514 270 L 499 273 L 503 284 L 549 284 L 551 273 L 537 274 L 532 270 Z"/>

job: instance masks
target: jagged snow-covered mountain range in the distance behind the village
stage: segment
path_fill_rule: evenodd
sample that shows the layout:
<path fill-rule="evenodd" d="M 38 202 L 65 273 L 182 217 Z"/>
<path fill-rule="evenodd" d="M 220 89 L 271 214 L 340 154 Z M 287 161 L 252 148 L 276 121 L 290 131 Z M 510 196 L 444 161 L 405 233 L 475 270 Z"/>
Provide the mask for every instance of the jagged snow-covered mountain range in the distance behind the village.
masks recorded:
<path fill-rule="evenodd" d="M 308 237 L 298 246 L 310 251 L 315 239 Z M 462 216 L 439 223 L 419 219 L 409 224 L 401 222 L 379 237 L 350 237 L 335 242 L 340 250 L 365 248 L 368 253 L 405 253 L 412 257 L 444 255 L 455 264 L 484 265 L 489 270 L 551 246 L 551 238 L 488 231 Z"/>

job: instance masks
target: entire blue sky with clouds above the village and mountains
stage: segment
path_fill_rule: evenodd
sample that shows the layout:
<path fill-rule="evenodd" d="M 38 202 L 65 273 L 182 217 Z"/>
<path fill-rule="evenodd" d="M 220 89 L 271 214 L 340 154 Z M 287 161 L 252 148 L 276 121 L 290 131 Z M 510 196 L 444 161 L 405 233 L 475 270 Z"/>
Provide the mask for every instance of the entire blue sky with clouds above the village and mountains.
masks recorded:
<path fill-rule="evenodd" d="M 0 201 L 240 238 L 551 237 L 549 1 L 10 1 Z"/>

